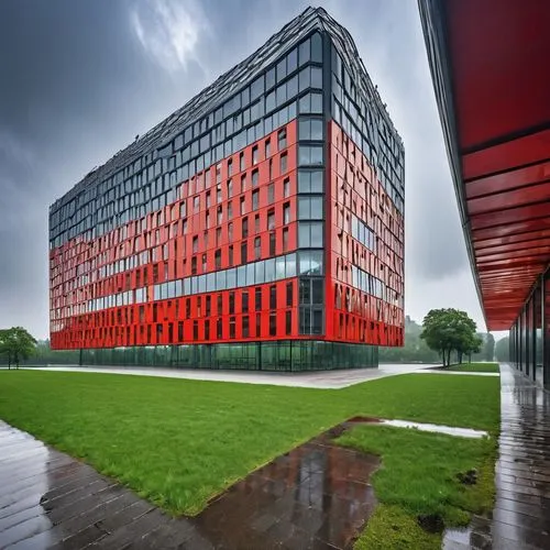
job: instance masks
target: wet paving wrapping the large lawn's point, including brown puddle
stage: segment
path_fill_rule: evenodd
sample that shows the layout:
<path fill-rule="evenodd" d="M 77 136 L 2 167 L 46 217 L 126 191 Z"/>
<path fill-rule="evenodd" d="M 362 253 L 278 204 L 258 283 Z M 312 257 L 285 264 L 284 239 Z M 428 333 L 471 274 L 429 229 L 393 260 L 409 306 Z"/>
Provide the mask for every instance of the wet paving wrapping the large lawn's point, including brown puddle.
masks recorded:
<path fill-rule="evenodd" d="M 278 457 L 195 518 L 172 518 L 0 421 L 0 548 L 346 549 L 376 501 L 377 458 L 329 432 Z"/>

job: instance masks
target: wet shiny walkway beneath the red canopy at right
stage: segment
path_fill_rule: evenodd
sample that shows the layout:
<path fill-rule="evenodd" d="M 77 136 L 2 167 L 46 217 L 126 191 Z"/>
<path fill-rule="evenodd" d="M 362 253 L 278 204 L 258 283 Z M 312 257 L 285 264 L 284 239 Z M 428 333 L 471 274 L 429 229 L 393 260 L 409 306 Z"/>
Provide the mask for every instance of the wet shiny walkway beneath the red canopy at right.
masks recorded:
<path fill-rule="evenodd" d="M 501 366 L 501 437 L 491 519 L 446 535 L 446 550 L 550 548 L 550 393 Z"/>

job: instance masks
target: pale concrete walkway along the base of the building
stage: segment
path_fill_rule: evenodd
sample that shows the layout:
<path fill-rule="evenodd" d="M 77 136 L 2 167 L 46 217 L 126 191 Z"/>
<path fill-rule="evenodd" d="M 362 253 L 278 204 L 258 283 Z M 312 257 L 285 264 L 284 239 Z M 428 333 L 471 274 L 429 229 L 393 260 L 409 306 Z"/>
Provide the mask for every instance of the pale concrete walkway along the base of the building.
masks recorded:
<path fill-rule="evenodd" d="M 353 369 L 342 371 L 318 371 L 301 373 L 273 373 L 257 371 L 208 371 L 189 369 L 165 369 L 160 366 L 42 366 L 38 371 L 84 372 L 105 374 L 133 374 L 139 376 L 163 376 L 168 378 L 201 380 L 211 382 L 238 382 L 242 384 L 267 384 L 311 388 L 352 386 L 361 382 L 414 373 L 433 365 L 424 364 L 383 364 L 378 369 Z"/>

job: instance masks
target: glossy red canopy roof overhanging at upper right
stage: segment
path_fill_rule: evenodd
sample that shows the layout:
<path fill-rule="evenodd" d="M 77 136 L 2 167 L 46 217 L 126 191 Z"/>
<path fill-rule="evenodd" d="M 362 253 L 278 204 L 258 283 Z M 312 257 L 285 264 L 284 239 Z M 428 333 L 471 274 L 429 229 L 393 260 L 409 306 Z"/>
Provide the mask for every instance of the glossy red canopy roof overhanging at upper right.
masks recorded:
<path fill-rule="evenodd" d="M 550 262 L 550 1 L 419 0 L 490 330 Z"/>

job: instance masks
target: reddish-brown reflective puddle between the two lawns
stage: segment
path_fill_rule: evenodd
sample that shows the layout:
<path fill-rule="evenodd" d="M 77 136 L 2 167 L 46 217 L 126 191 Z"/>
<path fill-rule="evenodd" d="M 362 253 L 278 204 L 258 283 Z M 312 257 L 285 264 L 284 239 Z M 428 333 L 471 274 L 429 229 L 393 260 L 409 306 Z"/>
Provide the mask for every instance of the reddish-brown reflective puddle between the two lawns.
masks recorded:
<path fill-rule="evenodd" d="M 193 519 L 215 548 L 351 548 L 376 506 L 374 455 L 336 446 L 345 427 L 278 457 Z"/>

